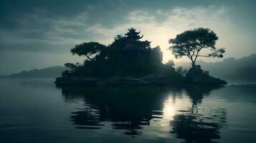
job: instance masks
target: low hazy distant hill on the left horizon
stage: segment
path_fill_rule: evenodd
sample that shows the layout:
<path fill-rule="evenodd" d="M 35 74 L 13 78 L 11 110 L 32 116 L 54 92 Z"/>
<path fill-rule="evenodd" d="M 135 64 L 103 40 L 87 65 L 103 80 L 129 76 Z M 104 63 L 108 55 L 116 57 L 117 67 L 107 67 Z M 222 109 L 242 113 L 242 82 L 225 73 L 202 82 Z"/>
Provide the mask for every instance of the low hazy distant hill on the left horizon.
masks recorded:
<path fill-rule="evenodd" d="M 52 66 L 44 69 L 32 69 L 30 71 L 21 71 L 16 74 L 11 74 L 6 77 L 13 78 L 50 78 L 60 77 L 62 71 L 66 70 L 64 66 Z"/>

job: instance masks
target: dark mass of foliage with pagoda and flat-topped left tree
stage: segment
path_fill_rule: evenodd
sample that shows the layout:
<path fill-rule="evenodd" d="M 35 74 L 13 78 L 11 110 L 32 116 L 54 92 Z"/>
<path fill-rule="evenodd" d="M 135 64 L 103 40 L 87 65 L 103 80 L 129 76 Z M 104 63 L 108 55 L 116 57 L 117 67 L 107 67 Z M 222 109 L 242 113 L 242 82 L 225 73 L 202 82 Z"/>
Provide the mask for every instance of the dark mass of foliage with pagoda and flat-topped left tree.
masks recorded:
<path fill-rule="evenodd" d="M 158 71 L 163 66 L 160 47 L 151 48 L 151 42 L 141 41 L 143 36 L 139 34 L 131 28 L 124 36 L 116 36 L 108 46 L 93 41 L 76 45 L 71 49 L 72 54 L 86 56 L 89 60 L 77 66 L 74 74 L 83 77 L 140 76 Z"/>

